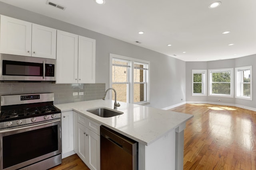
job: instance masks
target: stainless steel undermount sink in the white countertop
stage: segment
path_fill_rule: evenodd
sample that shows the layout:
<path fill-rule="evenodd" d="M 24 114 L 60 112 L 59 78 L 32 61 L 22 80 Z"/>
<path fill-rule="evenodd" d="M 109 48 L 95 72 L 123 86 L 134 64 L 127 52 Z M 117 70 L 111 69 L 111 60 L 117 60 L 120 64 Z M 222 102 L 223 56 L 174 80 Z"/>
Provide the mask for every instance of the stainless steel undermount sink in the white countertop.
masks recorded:
<path fill-rule="evenodd" d="M 122 111 L 117 111 L 114 109 L 109 109 L 106 107 L 98 107 L 94 109 L 88 109 L 86 110 L 94 115 L 100 116 L 100 117 L 112 117 L 123 114 Z"/>

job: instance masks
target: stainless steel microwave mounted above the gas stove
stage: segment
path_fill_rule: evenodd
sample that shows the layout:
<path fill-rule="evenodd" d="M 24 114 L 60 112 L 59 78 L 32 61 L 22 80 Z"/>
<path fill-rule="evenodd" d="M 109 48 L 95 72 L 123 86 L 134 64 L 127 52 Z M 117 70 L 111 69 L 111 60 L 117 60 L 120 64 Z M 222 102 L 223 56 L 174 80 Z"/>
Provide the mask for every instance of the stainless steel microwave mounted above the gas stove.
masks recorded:
<path fill-rule="evenodd" d="M 0 54 L 0 81 L 56 81 L 56 60 Z"/>

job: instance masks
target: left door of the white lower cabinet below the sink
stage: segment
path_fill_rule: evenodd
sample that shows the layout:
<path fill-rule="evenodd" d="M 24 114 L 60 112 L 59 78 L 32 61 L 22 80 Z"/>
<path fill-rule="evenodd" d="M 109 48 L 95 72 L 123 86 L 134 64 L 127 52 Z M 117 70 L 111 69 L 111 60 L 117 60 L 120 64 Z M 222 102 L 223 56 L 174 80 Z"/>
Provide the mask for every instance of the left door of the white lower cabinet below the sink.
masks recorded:
<path fill-rule="evenodd" d="M 86 163 L 88 160 L 88 140 L 87 140 L 87 128 L 77 123 L 77 154 Z M 86 136 L 87 135 L 87 136 Z"/>

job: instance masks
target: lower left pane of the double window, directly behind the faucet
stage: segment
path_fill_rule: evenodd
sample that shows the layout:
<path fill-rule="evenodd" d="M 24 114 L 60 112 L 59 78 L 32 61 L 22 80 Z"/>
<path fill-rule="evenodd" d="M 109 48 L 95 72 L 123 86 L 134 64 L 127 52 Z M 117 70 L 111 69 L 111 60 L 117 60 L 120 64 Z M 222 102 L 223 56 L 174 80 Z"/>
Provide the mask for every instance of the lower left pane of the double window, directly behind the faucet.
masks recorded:
<path fill-rule="evenodd" d="M 127 102 L 128 84 L 112 84 L 112 88 L 116 90 L 116 100 L 120 102 Z M 112 100 L 115 100 L 115 93 L 112 90 Z"/>

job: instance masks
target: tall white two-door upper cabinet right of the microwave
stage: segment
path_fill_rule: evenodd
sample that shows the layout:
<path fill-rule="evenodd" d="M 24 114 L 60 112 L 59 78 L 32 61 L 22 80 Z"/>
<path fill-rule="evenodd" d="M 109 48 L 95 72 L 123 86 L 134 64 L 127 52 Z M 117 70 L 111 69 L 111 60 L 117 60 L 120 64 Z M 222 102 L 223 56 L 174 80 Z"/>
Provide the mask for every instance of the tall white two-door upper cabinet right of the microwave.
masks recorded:
<path fill-rule="evenodd" d="M 95 83 L 95 39 L 57 31 L 56 83 Z"/>

